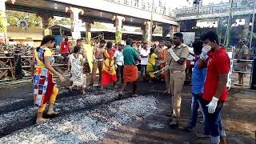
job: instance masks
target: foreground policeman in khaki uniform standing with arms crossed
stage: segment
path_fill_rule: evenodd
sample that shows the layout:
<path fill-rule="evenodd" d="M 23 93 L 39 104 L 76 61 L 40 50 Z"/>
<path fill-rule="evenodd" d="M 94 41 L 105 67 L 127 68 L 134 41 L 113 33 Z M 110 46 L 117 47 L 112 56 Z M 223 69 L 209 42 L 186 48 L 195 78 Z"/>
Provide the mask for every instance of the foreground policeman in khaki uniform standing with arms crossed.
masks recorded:
<path fill-rule="evenodd" d="M 174 46 L 167 53 L 170 54 L 170 86 L 172 98 L 172 121 L 170 126 L 178 126 L 182 102 L 182 87 L 186 78 L 186 58 L 189 56 L 189 47 L 183 44 L 183 34 L 174 34 Z"/>

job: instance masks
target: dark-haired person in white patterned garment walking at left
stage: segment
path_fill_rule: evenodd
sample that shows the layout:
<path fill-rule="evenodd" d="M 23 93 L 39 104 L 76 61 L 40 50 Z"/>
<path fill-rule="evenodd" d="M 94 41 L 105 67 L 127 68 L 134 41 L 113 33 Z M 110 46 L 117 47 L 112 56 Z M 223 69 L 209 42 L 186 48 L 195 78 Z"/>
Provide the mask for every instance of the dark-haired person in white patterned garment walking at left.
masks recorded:
<path fill-rule="evenodd" d="M 83 74 L 83 57 L 82 54 L 79 54 L 80 49 L 80 46 L 74 46 L 74 53 L 70 54 L 68 71 L 71 73 L 70 81 L 73 84 L 69 87 L 69 89 L 72 91 L 74 87 L 80 87 L 82 94 L 86 94 L 86 76 L 84 77 L 85 74 Z"/>

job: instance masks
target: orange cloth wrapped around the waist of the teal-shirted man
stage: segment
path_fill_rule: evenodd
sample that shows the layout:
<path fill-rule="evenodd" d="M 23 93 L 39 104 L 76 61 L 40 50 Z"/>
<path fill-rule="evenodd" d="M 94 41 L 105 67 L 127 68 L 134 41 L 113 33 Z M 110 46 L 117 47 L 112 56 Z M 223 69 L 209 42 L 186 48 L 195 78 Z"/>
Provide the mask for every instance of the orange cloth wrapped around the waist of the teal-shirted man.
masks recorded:
<path fill-rule="evenodd" d="M 124 82 L 134 82 L 138 80 L 138 68 L 137 66 L 125 65 L 123 68 Z"/>

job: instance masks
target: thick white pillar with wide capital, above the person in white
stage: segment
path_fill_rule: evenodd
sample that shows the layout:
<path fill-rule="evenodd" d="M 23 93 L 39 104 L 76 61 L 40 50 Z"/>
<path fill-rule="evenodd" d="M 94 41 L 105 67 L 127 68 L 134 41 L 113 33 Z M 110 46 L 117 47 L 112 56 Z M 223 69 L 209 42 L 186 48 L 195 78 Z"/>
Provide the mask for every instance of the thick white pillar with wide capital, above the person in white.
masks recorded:
<path fill-rule="evenodd" d="M 83 10 L 77 7 L 66 7 L 66 12 L 70 12 L 70 18 L 72 21 L 72 38 L 75 41 L 78 38 L 81 38 L 81 32 L 79 30 L 79 14 L 83 14 Z"/>

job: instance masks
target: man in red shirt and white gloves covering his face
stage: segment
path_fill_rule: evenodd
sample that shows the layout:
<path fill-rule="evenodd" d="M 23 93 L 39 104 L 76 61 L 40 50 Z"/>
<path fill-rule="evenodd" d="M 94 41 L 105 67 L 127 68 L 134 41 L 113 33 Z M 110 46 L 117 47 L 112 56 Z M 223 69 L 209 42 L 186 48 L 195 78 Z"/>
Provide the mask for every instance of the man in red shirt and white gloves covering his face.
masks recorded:
<path fill-rule="evenodd" d="M 209 124 L 211 143 L 226 143 L 226 133 L 222 126 L 221 111 L 227 100 L 226 87 L 228 73 L 230 71 L 230 58 L 224 47 L 219 46 L 218 34 L 207 32 L 202 38 L 205 45 L 210 46 L 209 58 L 204 58 L 204 66 L 208 67 L 205 81 L 205 89 L 199 101 L 205 115 L 205 122 Z"/>

